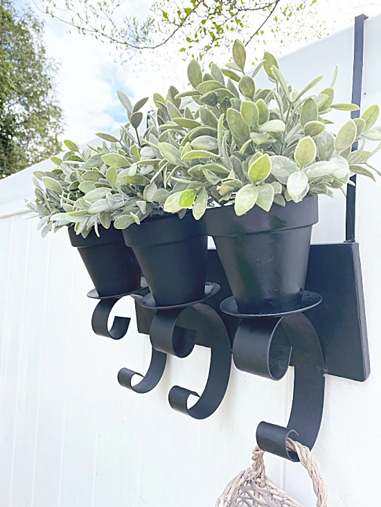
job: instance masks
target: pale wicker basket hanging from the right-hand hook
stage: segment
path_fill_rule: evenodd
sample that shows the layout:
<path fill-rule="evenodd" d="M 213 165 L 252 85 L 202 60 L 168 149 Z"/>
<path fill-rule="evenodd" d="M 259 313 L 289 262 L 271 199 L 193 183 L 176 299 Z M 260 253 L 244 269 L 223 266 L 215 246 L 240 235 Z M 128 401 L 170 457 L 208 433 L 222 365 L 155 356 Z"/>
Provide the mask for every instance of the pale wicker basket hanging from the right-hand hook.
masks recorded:
<path fill-rule="evenodd" d="M 310 450 L 290 439 L 287 441 L 287 449 L 298 454 L 301 464 L 308 471 L 317 496 L 317 507 L 327 507 L 327 488 Z M 255 448 L 253 465 L 229 482 L 218 497 L 215 507 L 303 507 L 269 480 L 265 473 L 263 454 L 263 450 Z"/>

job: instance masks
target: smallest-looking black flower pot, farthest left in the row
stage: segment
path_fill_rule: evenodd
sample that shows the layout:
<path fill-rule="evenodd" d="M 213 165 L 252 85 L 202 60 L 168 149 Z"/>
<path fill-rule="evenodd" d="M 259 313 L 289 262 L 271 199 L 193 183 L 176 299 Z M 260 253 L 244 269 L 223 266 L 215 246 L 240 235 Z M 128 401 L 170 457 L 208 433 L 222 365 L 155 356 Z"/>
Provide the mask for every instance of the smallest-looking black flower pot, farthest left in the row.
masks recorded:
<path fill-rule="evenodd" d="M 134 252 L 125 245 L 123 232 L 111 225 L 99 225 L 84 238 L 69 228 L 71 245 L 78 248 L 82 261 L 100 297 L 126 294 L 141 285 L 141 270 Z"/>

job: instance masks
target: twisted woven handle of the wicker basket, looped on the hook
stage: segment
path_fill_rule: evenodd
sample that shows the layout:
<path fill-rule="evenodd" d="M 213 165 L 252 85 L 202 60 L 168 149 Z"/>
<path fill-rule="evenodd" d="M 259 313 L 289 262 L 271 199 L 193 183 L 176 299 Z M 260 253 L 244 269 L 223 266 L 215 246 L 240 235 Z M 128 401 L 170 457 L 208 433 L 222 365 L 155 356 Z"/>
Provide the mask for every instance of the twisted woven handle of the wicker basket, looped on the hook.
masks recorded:
<path fill-rule="evenodd" d="M 305 470 L 307 470 L 308 475 L 311 477 L 314 492 L 317 496 L 317 507 L 327 507 L 327 487 L 317 468 L 317 464 L 312 459 L 311 451 L 308 449 L 308 447 L 305 447 L 304 445 L 301 445 L 301 443 L 295 442 L 291 439 L 287 439 L 287 450 L 296 452 L 299 457 L 299 461 Z M 258 474 L 257 477 L 260 479 L 260 486 L 262 487 L 264 487 L 266 483 L 265 462 L 263 461 L 263 454 L 265 454 L 265 451 L 261 450 L 257 445 L 253 451 L 252 457 L 253 468 Z"/>

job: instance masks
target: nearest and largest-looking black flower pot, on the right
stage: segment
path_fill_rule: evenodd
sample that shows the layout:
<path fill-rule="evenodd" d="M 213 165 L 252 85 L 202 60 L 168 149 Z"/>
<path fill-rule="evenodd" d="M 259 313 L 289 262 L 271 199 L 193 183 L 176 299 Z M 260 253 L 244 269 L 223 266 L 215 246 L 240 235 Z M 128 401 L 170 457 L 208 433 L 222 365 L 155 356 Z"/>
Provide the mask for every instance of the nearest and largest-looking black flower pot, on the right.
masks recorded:
<path fill-rule="evenodd" d="M 282 313 L 299 308 L 304 291 L 317 196 L 269 212 L 254 206 L 236 216 L 233 205 L 210 208 L 212 236 L 241 313 Z"/>

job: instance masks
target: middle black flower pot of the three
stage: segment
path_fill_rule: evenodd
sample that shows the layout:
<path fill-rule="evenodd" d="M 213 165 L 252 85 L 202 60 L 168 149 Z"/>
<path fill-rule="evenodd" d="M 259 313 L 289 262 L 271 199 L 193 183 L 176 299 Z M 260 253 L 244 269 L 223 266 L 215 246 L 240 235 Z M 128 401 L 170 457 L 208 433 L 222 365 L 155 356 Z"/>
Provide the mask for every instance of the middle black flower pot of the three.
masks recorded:
<path fill-rule="evenodd" d="M 123 230 L 156 304 L 170 306 L 202 299 L 208 238 L 204 220 L 191 213 L 148 217 Z"/>

